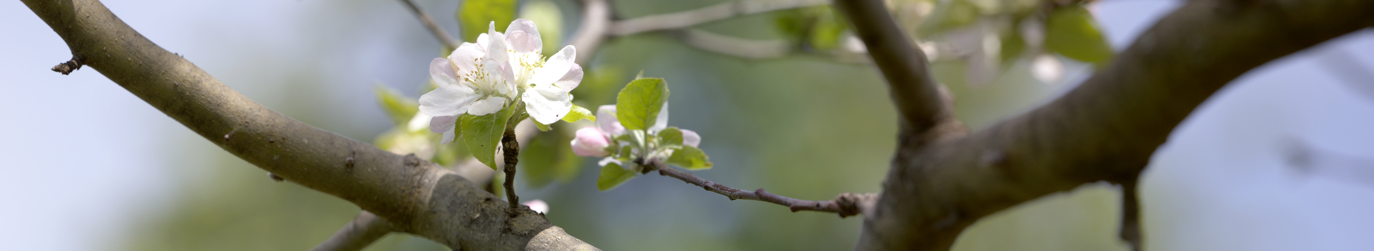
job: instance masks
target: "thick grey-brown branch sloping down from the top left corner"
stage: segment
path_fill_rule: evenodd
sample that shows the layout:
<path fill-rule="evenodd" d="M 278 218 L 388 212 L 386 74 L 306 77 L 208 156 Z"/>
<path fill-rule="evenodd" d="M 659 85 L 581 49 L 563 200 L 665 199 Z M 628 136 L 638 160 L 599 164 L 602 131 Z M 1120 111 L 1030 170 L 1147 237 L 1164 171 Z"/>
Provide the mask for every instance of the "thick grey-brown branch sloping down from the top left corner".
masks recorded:
<path fill-rule="evenodd" d="M 235 156 L 455 250 L 595 250 L 448 169 L 262 107 L 95 0 L 25 0 L 84 63 Z M 232 132 L 232 133 L 231 133 Z"/>

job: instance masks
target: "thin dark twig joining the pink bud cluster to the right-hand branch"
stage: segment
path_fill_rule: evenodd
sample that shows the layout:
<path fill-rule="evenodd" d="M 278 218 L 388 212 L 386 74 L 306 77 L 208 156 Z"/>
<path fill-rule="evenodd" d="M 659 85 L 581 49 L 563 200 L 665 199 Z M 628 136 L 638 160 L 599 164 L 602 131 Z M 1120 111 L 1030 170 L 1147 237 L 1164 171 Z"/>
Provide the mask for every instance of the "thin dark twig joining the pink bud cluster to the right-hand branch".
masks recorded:
<path fill-rule="evenodd" d="M 650 166 L 658 170 L 660 176 L 673 177 L 687 184 L 702 187 L 706 191 L 724 195 L 730 200 L 745 199 L 745 200 L 758 200 L 768 202 L 774 204 L 787 206 L 791 211 L 827 211 L 840 214 L 841 218 L 857 215 L 861 213 L 861 206 L 866 202 L 877 199 L 874 193 L 840 193 L 834 200 L 801 200 L 793 199 L 782 195 L 774 195 L 763 188 L 756 191 L 742 191 L 731 187 L 725 187 L 717 182 L 708 181 L 706 178 L 697 177 L 695 174 L 680 171 L 677 169 L 669 167 L 662 162 L 650 162 Z"/>

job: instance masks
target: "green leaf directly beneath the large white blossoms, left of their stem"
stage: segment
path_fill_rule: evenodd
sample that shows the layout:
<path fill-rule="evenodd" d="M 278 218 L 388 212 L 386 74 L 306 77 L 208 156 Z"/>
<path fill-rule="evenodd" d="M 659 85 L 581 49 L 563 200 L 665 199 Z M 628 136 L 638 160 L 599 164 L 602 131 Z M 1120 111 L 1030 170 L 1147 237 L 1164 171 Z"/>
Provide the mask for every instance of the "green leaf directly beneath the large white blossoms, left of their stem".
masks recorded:
<path fill-rule="evenodd" d="M 511 118 L 515 112 L 515 106 L 506 106 L 500 111 L 486 115 L 471 115 L 463 114 L 459 123 L 462 128 L 463 143 L 467 144 L 467 151 L 473 152 L 473 158 L 481 160 L 486 166 L 496 169 L 496 148 L 502 143 L 502 136 L 506 133 L 506 119 Z"/>

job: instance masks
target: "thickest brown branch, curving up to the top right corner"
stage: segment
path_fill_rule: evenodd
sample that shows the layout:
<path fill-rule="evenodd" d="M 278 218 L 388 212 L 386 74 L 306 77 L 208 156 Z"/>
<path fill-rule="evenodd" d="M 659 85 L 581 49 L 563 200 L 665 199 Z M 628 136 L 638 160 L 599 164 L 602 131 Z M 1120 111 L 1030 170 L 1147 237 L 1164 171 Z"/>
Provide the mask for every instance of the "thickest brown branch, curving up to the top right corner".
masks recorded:
<path fill-rule="evenodd" d="M 881 15 L 881 3 L 871 3 L 877 5 L 867 5 L 848 7 L 849 16 Z M 1050 103 L 966 137 L 900 144 L 856 250 L 948 250 L 963 228 L 988 214 L 1085 182 L 1132 178 L 1173 128 L 1227 82 L 1370 26 L 1370 14 L 1374 1 L 1367 0 L 1189 1 Z M 855 19 L 860 30 L 882 25 Z M 890 63 L 878 60 L 882 44 L 868 48 L 889 82 L 910 74 L 882 67 Z M 894 96 L 899 107 L 904 99 L 929 99 Z"/>

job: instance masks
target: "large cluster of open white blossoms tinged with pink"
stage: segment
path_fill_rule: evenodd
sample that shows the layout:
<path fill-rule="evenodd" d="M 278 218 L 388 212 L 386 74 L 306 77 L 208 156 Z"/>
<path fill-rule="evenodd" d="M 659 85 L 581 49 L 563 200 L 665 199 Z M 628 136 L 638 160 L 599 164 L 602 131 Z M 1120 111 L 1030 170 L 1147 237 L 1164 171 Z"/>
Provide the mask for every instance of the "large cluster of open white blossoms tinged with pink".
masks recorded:
<path fill-rule="evenodd" d="M 543 125 L 567 115 L 573 108 L 567 92 L 583 81 L 577 49 L 567 45 L 544 59 L 543 47 L 534 22 L 515 19 L 506 33 L 492 22 L 475 44 L 463 43 L 448 58 L 430 62 L 438 88 L 420 96 L 419 110 L 434 117 L 430 130 L 444 133 L 441 144 L 453 140 L 462 114 L 488 115 L 523 104 L 525 114 Z"/>

